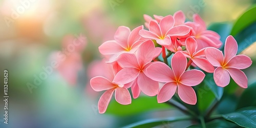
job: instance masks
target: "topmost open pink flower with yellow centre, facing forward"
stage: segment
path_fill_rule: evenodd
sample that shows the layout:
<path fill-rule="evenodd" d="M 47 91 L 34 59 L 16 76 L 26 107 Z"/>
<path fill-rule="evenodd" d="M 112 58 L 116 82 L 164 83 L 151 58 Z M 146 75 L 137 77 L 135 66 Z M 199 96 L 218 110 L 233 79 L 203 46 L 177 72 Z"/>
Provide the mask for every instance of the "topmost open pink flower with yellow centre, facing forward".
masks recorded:
<path fill-rule="evenodd" d="M 172 42 L 170 37 L 184 36 L 191 32 L 190 27 L 184 25 L 174 27 L 174 24 L 173 16 L 167 15 L 160 20 L 159 24 L 155 20 L 151 20 L 148 25 L 149 31 L 140 30 L 139 34 L 143 38 L 155 39 L 161 46 L 168 46 Z"/>

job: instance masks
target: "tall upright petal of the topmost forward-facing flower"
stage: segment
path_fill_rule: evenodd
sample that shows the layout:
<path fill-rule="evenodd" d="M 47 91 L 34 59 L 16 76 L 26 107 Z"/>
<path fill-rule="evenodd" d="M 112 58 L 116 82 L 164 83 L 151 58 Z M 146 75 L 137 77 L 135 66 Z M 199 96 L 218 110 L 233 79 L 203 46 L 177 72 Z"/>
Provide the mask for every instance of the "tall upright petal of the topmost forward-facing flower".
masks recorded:
<path fill-rule="evenodd" d="M 159 26 L 163 36 L 166 36 L 167 32 L 174 26 L 174 18 L 172 15 L 167 15 L 161 19 Z"/>

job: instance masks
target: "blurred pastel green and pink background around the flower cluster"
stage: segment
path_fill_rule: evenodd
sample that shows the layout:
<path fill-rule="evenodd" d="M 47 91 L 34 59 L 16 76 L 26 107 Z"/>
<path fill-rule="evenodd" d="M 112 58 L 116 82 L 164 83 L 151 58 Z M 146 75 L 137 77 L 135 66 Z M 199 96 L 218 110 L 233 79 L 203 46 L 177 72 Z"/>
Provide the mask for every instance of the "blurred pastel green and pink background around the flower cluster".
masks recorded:
<path fill-rule="evenodd" d="M 94 92 L 89 85 L 91 77 L 102 73 L 98 46 L 113 39 L 118 26 L 134 29 L 144 25 L 143 14 L 165 16 L 182 10 L 187 20 L 199 13 L 207 25 L 232 24 L 254 3 L 252 0 L 2 0 L 0 127 L 120 127 L 151 117 L 181 115 L 168 109 L 167 104 L 157 104 L 156 97 L 138 98 L 133 100 L 135 105 L 126 108 L 113 100 L 106 114 L 98 114 L 97 102 L 102 92 Z M 70 45 L 76 41 L 77 46 Z M 244 51 L 253 61 L 255 53 L 255 47 Z M 8 125 L 3 122 L 4 70 L 9 73 Z M 249 83 L 252 82 L 255 69 L 244 71 Z M 158 109 L 148 109 L 149 106 Z M 150 113 L 145 113 L 146 110 Z M 184 127 L 190 123 L 182 122 Z M 166 127 L 175 125 L 163 123 Z"/>

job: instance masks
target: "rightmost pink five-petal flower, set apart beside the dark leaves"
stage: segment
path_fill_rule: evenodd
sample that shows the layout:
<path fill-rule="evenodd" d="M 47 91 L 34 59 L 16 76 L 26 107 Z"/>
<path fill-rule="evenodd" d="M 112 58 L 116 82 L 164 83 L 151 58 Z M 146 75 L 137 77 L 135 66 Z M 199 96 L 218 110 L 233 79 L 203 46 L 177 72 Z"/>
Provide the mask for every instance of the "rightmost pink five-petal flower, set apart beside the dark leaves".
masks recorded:
<path fill-rule="evenodd" d="M 240 87 L 247 88 L 247 77 L 240 69 L 248 68 L 252 61 L 246 55 L 236 55 L 237 51 L 237 41 L 231 35 L 226 38 L 224 56 L 223 53 L 216 48 L 206 48 L 206 58 L 211 65 L 217 67 L 214 71 L 214 80 L 217 86 L 227 86 L 231 76 Z"/>

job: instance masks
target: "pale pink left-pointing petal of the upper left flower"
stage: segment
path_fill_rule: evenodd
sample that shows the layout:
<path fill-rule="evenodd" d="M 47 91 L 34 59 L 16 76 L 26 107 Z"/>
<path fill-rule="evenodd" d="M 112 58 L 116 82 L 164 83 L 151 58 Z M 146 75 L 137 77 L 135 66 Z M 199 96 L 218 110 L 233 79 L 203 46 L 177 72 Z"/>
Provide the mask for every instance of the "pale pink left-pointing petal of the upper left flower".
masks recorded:
<path fill-rule="evenodd" d="M 115 40 L 105 41 L 102 45 L 99 46 L 99 52 L 102 55 L 116 54 L 124 50 L 125 49 Z"/>

